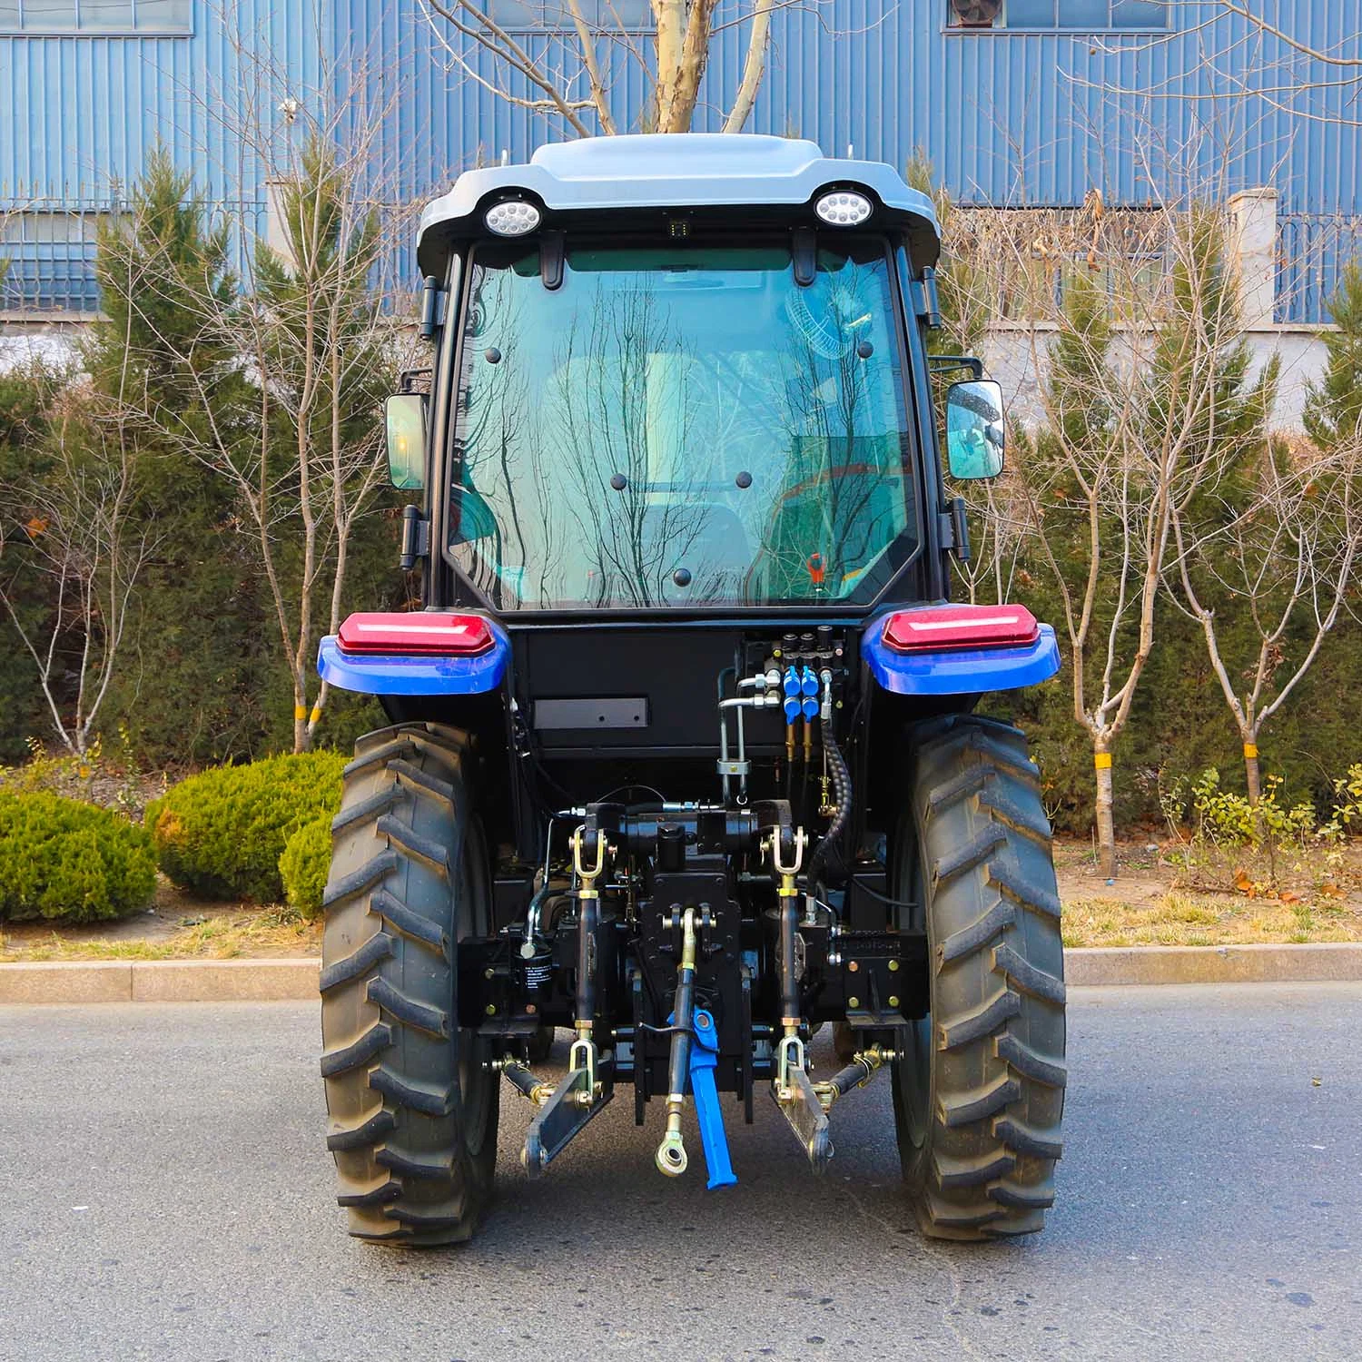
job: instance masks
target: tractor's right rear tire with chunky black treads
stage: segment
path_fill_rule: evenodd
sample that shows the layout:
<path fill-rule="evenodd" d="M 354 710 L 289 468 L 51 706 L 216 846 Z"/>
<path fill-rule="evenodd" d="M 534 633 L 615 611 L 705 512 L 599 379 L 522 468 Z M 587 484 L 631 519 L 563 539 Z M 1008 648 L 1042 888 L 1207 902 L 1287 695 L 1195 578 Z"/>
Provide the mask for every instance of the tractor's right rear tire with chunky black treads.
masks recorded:
<path fill-rule="evenodd" d="M 1064 947 L 1050 824 L 1016 729 L 974 715 L 913 734 L 895 843 L 900 926 L 928 932 L 932 1013 L 893 1065 L 903 1175 L 937 1238 L 1042 1229 L 1064 1111 Z"/>

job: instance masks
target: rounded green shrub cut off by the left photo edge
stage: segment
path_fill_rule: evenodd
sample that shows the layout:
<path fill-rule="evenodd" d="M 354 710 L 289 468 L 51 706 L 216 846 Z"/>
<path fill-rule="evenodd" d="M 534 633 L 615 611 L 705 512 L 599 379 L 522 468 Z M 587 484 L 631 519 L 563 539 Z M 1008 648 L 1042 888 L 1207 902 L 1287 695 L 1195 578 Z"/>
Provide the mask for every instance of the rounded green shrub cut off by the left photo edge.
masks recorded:
<path fill-rule="evenodd" d="M 57 794 L 0 791 L 0 919 L 121 918 L 155 884 L 155 851 L 136 824 Z"/>

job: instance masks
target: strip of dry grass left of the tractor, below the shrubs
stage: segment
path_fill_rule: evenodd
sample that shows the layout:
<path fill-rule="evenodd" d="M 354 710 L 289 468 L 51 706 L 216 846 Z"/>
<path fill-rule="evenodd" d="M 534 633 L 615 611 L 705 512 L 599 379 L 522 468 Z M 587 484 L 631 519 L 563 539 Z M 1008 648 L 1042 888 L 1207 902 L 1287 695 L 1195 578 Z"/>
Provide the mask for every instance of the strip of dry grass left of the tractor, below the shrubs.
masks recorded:
<path fill-rule="evenodd" d="M 230 960 L 238 956 L 316 955 L 321 923 L 291 908 L 223 913 L 177 928 L 157 940 L 72 938 L 59 930 L 0 933 L 0 964 L 30 960 Z"/>

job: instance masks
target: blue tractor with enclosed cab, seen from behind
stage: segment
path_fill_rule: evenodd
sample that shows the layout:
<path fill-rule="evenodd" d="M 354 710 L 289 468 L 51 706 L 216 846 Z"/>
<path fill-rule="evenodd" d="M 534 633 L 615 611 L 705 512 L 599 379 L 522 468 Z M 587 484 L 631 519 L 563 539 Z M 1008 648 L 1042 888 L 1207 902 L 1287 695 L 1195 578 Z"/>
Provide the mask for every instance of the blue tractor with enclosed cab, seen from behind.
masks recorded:
<path fill-rule="evenodd" d="M 930 353 L 938 251 L 889 166 L 755 135 L 545 146 L 425 208 L 430 368 L 385 409 L 419 598 L 319 656 L 390 720 L 324 898 L 353 1234 L 470 1238 L 503 1084 L 530 1178 L 632 1088 L 659 1174 L 722 1188 L 763 1092 L 821 1173 L 885 1073 L 906 1218 L 1042 1227 L 1060 900 L 1026 740 L 977 707 L 1060 659 L 949 601 L 952 479 L 1001 471 L 1005 419 Z"/>

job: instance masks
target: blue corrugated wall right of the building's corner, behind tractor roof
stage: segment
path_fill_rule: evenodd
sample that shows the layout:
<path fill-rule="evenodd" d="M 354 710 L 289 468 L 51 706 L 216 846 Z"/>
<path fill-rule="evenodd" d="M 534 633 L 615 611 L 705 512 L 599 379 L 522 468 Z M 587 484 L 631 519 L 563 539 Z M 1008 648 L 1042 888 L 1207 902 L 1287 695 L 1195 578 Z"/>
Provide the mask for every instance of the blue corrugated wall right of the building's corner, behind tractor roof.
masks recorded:
<path fill-rule="evenodd" d="M 515 108 L 460 72 L 418 0 L 336 4 L 339 68 L 388 72 L 387 159 L 413 189 L 479 155 L 505 148 L 520 159 L 571 135 L 561 120 Z M 1362 0 L 1294 0 L 1290 10 L 1293 31 L 1310 42 L 1358 49 Z M 1362 211 L 1355 86 L 1280 90 L 1336 82 L 1339 71 L 1294 56 L 1214 0 L 1179 3 L 1184 31 L 1170 35 L 949 30 L 947 12 L 947 0 L 783 11 L 748 131 L 813 138 L 836 154 L 854 144 L 898 166 L 921 146 L 952 192 L 974 202 L 1072 204 L 1096 185 L 1110 202 L 1140 203 L 1272 184 L 1287 212 Z M 735 0 L 723 0 L 720 22 L 737 14 Z M 475 44 L 444 35 L 477 78 L 534 97 Z M 731 102 L 744 41 L 745 27 L 734 26 L 715 42 L 697 120 L 706 131 Z M 526 49 L 554 60 L 542 35 Z M 603 52 L 621 131 L 637 128 L 644 72 L 628 48 Z"/>

